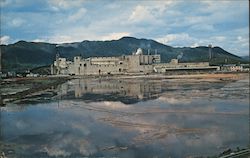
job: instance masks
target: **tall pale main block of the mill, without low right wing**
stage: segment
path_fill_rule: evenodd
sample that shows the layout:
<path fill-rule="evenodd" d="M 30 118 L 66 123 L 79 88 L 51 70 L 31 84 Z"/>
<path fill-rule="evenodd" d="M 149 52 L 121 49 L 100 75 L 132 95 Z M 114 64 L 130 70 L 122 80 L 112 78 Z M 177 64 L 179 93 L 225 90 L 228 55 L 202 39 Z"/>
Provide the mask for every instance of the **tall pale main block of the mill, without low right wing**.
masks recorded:
<path fill-rule="evenodd" d="M 153 65 L 160 63 L 160 55 L 144 55 L 142 49 L 137 49 L 132 55 L 119 57 L 74 57 L 74 61 L 57 58 L 51 65 L 53 75 L 105 75 L 126 73 L 151 73 Z"/>

